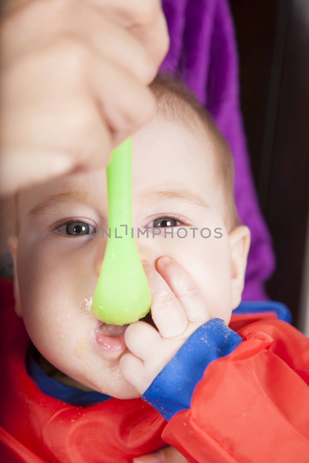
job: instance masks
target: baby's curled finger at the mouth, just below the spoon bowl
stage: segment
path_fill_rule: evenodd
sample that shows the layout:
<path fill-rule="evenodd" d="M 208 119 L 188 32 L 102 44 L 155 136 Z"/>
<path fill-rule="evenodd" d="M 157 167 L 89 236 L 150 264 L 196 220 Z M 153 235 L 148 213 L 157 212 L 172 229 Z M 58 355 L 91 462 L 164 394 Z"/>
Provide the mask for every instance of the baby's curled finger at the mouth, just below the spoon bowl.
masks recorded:
<path fill-rule="evenodd" d="M 126 347 L 142 360 L 153 356 L 153 349 L 160 345 L 162 339 L 158 331 L 145 321 L 137 321 L 126 328 Z"/>

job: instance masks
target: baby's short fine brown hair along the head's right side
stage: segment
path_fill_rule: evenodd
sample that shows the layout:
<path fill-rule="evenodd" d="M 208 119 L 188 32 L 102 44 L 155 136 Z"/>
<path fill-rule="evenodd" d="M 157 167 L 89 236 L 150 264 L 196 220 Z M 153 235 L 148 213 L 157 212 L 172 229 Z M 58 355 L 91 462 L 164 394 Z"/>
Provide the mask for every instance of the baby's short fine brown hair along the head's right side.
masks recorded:
<path fill-rule="evenodd" d="M 241 224 L 234 200 L 234 164 L 227 140 L 215 125 L 208 111 L 199 104 L 195 94 L 180 77 L 158 74 L 150 89 L 156 99 L 158 117 L 182 122 L 205 143 L 205 136 L 213 147 L 209 161 L 214 165 L 217 185 L 222 188 L 227 230 Z M 194 117 L 197 116 L 197 117 Z M 206 146 L 206 144 L 205 144 Z"/>

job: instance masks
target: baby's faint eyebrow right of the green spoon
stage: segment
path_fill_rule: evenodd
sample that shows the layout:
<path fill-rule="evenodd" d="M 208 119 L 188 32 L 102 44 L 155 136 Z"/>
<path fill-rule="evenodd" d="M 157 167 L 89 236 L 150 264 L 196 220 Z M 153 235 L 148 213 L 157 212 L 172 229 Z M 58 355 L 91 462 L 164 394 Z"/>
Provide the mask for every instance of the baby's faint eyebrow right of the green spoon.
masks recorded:
<path fill-rule="evenodd" d="M 149 204 L 155 201 L 178 199 L 203 209 L 211 209 L 208 202 L 200 194 L 193 193 L 190 190 L 146 190 L 140 196 L 142 204 Z"/>

